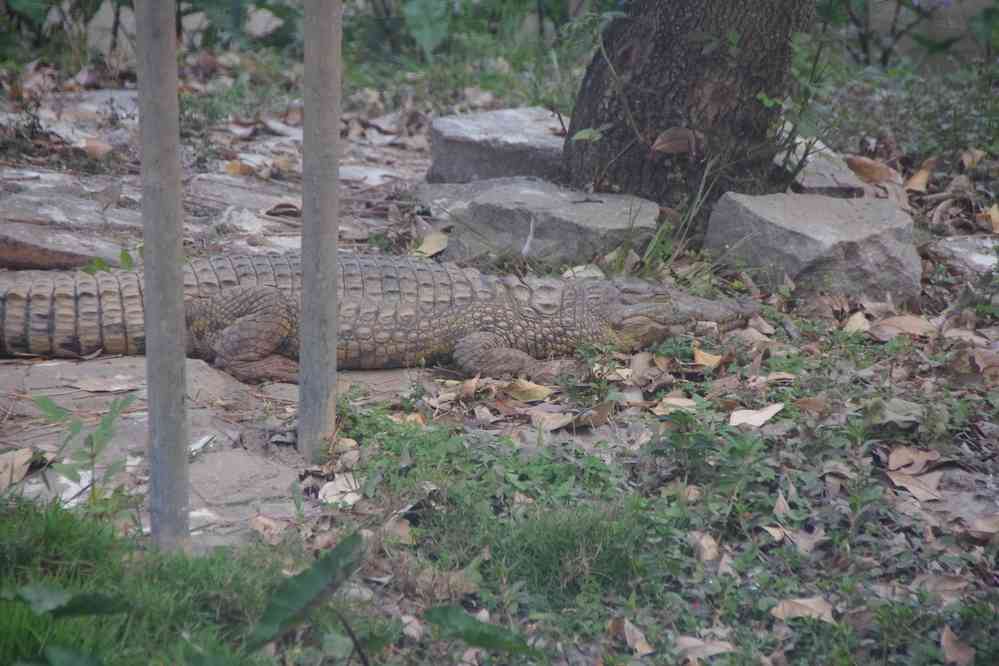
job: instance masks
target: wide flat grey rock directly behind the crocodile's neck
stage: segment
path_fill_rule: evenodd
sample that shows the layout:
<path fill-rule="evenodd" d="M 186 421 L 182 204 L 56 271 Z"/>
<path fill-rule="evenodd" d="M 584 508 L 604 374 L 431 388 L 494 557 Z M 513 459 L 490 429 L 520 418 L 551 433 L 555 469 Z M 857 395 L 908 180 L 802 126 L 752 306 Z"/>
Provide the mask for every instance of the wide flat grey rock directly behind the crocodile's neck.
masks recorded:
<path fill-rule="evenodd" d="M 642 248 L 659 206 L 634 196 L 584 194 L 534 178 L 420 185 L 416 197 L 453 225 L 445 258 L 526 256 L 584 264 L 622 244 Z"/>

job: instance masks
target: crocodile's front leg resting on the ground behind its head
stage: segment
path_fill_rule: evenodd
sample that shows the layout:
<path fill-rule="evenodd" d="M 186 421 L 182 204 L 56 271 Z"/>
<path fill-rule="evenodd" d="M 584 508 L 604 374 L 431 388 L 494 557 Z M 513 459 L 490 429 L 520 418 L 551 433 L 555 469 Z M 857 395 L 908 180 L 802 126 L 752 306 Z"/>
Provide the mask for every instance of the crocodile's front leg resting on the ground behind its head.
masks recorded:
<path fill-rule="evenodd" d="M 575 359 L 540 360 L 508 346 L 495 333 L 472 333 L 454 347 L 454 360 L 469 375 L 486 377 L 527 377 L 536 382 L 553 383 L 559 377 L 580 379 L 589 371 Z"/>

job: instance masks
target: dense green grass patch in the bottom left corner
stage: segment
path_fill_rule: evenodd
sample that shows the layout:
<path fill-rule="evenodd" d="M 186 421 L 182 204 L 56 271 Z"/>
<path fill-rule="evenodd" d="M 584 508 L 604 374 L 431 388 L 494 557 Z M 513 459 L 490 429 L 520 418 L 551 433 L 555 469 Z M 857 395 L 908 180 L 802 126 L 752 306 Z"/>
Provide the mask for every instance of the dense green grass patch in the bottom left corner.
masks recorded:
<path fill-rule="evenodd" d="M 107 664 L 183 663 L 198 650 L 232 656 L 281 578 L 280 561 L 263 552 L 160 555 L 116 536 L 109 523 L 56 506 L 13 502 L 0 511 L 5 593 L 44 582 L 132 605 L 122 615 L 54 621 L 0 600 L 0 663 L 33 658 L 50 646 Z"/>

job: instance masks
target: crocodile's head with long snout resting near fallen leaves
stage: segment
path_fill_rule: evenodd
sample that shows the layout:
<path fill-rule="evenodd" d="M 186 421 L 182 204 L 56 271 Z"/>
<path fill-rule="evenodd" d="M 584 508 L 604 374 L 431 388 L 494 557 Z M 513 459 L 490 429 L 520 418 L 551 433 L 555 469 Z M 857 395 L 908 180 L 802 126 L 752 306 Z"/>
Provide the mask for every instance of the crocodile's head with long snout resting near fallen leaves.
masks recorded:
<path fill-rule="evenodd" d="M 600 289 L 601 287 L 594 288 Z M 619 280 L 590 302 L 595 304 L 604 335 L 622 349 L 637 350 L 689 330 L 699 321 L 729 330 L 755 314 L 753 301 L 709 300 L 679 289 L 641 280 Z"/>

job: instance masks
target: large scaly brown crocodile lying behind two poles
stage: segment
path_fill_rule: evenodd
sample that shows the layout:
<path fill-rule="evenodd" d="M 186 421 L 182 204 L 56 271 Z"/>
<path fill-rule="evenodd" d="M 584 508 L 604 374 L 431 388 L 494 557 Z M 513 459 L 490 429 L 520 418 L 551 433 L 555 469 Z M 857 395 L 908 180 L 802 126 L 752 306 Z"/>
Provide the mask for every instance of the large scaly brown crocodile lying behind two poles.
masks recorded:
<path fill-rule="evenodd" d="M 638 279 L 493 276 L 428 259 L 340 253 L 342 369 L 452 360 L 469 375 L 575 374 L 586 344 L 633 350 L 694 322 L 728 330 L 756 303 Z M 301 257 L 227 255 L 184 267 L 187 355 L 243 381 L 294 381 Z M 0 271 L 0 356 L 142 354 L 142 273 Z"/>

